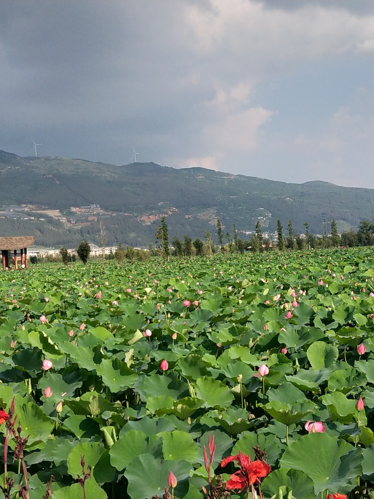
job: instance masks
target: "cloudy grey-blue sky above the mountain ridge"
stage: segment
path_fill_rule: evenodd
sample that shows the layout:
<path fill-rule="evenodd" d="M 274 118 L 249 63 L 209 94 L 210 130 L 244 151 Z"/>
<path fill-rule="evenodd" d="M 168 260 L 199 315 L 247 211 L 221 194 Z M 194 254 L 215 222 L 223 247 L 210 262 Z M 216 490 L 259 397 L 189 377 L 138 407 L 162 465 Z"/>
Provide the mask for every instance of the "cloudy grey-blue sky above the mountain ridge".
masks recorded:
<path fill-rule="evenodd" d="M 1 0 L 0 149 L 374 188 L 372 0 Z"/>

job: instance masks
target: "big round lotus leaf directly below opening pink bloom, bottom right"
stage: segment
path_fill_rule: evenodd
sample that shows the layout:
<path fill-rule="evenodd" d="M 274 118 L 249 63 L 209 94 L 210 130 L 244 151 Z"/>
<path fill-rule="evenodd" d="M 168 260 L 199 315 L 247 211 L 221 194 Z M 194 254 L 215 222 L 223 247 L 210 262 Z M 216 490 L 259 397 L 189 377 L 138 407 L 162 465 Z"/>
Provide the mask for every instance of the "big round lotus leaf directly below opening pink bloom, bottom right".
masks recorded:
<path fill-rule="evenodd" d="M 350 492 L 351 480 L 362 474 L 362 449 L 326 433 L 311 433 L 293 442 L 282 456 L 280 468 L 300 470 L 313 481 L 317 494 Z"/>

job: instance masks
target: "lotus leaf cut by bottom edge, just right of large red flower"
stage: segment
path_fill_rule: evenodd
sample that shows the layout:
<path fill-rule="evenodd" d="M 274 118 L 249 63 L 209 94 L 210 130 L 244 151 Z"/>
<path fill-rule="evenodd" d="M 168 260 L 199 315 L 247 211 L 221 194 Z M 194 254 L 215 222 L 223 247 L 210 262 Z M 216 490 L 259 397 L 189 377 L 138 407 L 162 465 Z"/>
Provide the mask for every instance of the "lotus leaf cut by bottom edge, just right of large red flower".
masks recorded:
<path fill-rule="evenodd" d="M 278 494 L 281 489 L 283 497 L 289 493 L 295 499 L 315 499 L 313 481 L 300 470 L 287 470 L 281 468 L 270 473 L 261 484 L 261 492 L 266 498 Z"/>

